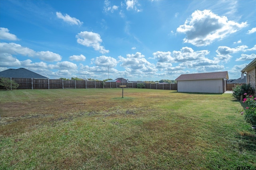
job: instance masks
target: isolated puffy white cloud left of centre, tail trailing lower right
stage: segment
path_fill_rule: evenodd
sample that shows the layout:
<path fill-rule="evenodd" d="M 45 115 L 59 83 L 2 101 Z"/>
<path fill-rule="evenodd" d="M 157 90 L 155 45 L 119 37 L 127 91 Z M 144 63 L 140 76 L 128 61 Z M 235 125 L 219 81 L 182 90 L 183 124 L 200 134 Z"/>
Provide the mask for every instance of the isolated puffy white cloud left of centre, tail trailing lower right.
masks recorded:
<path fill-rule="evenodd" d="M 99 51 L 100 53 L 108 53 L 109 50 L 106 50 L 103 46 L 100 45 L 102 39 L 98 33 L 81 31 L 76 35 L 77 42 L 86 47 L 93 47 L 94 50 Z"/>

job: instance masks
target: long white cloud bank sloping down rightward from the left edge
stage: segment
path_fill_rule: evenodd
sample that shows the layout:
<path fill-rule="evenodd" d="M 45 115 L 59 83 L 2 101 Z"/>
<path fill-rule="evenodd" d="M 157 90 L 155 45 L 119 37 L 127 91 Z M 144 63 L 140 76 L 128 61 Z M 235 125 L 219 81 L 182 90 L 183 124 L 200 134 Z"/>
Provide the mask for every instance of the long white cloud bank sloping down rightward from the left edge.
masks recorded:
<path fill-rule="evenodd" d="M 0 53 L 6 53 L 10 55 L 22 55 L 28 57 L 38 57 L 44 61 L 60 61 L 61 56 L 50 51 L 39 51 L 36 52 L 28 47 L 22 47 L 16 43 L 0 43 Z"/>

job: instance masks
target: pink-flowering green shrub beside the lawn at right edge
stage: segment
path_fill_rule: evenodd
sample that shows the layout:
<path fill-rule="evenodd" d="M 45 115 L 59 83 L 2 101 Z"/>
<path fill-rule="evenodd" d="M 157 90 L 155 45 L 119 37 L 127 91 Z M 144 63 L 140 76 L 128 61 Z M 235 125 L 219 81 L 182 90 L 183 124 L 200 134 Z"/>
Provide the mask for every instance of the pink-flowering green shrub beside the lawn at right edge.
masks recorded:
<path fill-rule="evenodd" d="M 246 95 L 246 98 L 244 98 L 243 103 L 248 104 L 248 107 L 241 112 L 241 115 L 244 115 L 247 123 L 256 125 L 256 98 L 248 96 L 246 93 L 244 95 Z"/>

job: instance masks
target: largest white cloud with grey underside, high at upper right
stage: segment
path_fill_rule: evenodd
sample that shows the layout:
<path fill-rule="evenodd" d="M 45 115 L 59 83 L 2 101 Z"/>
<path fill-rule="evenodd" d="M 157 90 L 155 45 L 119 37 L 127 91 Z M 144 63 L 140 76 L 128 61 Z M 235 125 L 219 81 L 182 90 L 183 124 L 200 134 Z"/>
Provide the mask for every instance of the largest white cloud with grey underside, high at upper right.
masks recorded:
<path fill-rule="evenodd" d="M 228 34 L 247 26 L 246 22 L 230 21 L 226 16 L 218 16 L 210 10 L 196 10 L 184 25 L 177 28 L 177 32 L 185 33 L 184 43 L 195 46 L 210 45 L 216 39 L 223 39 Z"/>

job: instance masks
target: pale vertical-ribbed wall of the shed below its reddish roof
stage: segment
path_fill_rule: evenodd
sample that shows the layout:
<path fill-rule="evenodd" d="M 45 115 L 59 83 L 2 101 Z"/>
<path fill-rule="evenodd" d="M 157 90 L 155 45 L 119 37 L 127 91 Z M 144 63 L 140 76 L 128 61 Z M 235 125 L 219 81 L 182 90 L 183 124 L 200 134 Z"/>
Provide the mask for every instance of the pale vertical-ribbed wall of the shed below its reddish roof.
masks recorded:
<path fill-rule="evenodd" d="M 178 92 L 223 93 L 223 79 L 180 80 L 177 81 Z"/>

